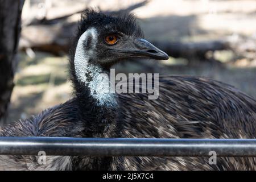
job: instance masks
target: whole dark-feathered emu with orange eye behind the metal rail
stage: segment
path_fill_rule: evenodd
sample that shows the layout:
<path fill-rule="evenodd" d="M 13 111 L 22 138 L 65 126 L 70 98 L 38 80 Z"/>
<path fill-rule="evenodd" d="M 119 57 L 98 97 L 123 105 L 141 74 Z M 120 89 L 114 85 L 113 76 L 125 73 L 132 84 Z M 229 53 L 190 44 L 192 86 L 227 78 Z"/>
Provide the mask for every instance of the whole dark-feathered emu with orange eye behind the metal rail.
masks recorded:
<path fill-rule="evenodd" d="M 103 138 L 254 138 L 256 101 L 233 86 L 209 78 L 159 77 L 159 98 L 100 92 L 112 65 L 144 57 L 168 59 L 143 39 L 133 15 L 86 10 L 70 54 L 74 96 L 31 118 L 0 128 L 1 136 Z M 99 90 L 100 88 L 100 90 Z M 32 168 L 28 167 L 32 164 Z M 0 156 L 0 169 L 18 170 L 228 170 L 256 169 L 255 158 Z"/>

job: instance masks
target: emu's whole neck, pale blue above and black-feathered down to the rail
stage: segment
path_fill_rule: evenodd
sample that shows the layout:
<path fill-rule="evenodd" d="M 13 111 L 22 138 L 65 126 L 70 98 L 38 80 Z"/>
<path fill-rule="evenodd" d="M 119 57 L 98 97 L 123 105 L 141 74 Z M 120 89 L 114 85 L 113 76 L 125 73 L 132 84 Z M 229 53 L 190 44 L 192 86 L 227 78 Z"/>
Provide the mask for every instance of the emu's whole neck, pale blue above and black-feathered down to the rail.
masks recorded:
<path fill-rule="evenodd" d="M 86 137 L 116 137 L 117 100 L 109 92 L 109 71 L 93 60 L 97 31 L 89 28 L 77 43 L 74 66 L 77 101 Z"/>

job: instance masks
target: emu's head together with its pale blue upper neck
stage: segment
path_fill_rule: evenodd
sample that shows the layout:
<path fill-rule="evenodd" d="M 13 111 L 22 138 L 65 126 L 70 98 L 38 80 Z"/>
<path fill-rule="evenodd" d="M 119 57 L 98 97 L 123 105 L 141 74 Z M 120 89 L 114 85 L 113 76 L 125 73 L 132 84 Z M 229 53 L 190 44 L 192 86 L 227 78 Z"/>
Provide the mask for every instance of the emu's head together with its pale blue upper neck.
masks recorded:
<path fill-rule="evenodd" d="M 143 39 L 133 15 L 114 17 L 90 9 L 82 15 L 72 48 L 70 68 L 75 93 L 77 97 L 93 98 L 101 106 L 117 103 L 109 93 L 108 78 L 102 77 L 113 64 L 131 57 L 168 59 L 166 53 Z"/>

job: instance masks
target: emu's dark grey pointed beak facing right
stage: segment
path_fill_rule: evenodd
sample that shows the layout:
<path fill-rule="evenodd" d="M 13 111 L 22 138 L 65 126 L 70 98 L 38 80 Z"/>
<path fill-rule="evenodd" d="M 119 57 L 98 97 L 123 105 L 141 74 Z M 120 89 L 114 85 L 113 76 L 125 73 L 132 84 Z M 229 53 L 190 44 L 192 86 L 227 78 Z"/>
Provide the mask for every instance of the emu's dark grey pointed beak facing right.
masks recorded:
<path fill-rule="evenodd" d="M 161 51 L 145 39 L 135 39 L 126 49 L 117 52 L 128 53 L 130 57 L 147 57 L 157 60 L 168 60 L 167 53 Z"/>

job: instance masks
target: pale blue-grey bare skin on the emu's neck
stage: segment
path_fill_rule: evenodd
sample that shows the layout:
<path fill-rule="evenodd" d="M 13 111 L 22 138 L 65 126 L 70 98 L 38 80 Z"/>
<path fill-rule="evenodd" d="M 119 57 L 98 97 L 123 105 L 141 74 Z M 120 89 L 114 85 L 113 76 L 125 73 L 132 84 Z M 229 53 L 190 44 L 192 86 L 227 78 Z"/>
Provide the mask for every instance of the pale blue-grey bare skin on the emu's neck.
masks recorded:
<path fill-rule="evenodd" d="M 86 43 L 90 37 L 90 46 Z M 89 28 L 79 38 L 75 53 L 75 72 L 79 82 L 90 89 L 90 95 L 97 101 L 98 106 L 116 106 L 114 93 L 109 90 L 109 72 L 104 71 L 99 65 L 90 64 L 93 59 L 97 44 L 97 30 Z M 86 47 L 88 46 L 88 47 Z"/>

